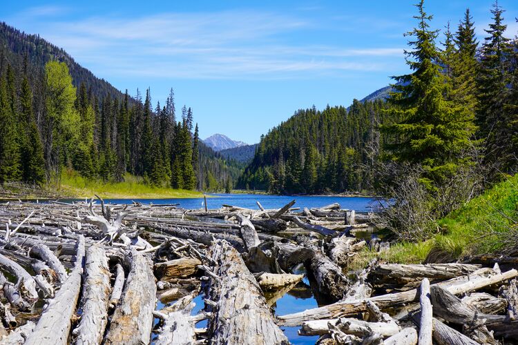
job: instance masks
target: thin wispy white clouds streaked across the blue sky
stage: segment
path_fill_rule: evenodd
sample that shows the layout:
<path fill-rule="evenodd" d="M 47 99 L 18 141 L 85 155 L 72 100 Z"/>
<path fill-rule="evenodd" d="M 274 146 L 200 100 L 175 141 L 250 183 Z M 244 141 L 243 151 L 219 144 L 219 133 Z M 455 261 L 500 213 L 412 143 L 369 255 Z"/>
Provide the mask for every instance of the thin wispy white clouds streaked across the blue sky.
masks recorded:
<path fill-rule="evenodd" d="M 343 47 L 305 41 L 314 23 L 251 10 L 165 13 L 135 19 L 50 21 L 42 37 L 81 63 L 119 75 L 193 79 L 278 79 L 386 67 L 403 48 Z M 289 41 L 286 35 L 302 39 Z"/>

